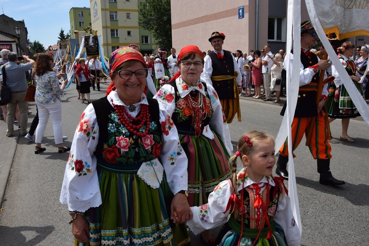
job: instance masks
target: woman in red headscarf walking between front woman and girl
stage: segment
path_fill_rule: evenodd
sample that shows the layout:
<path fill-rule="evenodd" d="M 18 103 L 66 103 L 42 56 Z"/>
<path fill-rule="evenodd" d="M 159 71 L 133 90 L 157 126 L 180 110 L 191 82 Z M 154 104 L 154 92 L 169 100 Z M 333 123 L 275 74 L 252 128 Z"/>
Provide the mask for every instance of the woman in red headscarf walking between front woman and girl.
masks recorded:
<path fill-rule="evenodd" d="M 188 203 L 201 206 L 219 182 L 231 175 L 228 159 L 233 149 L 228 124 L 215 89 L 200 78 L 204 54 L 194 45 L 178 55 L 178 73 L 155 94 L 177 126 L 188 158 Z M 201 235 L 214 241 L 210 231 Z"/>

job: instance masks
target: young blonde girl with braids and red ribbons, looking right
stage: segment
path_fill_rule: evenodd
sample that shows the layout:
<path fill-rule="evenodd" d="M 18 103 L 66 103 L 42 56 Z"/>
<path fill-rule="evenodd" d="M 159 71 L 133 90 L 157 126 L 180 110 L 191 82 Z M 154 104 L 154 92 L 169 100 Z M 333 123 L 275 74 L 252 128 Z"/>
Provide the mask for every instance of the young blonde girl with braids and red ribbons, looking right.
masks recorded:
<path fill-rule="evenodd" d="M 240 138 L 238 151 L 230 158 L 232 179 L 215 187 L 209 203 L 191 207 L 193 218 L 187 226 L 193 233 L 225 223 L 216 245 L 300 245 L 287 189 L 281 178 L 271 176 L 274 145 L 273 137 L 264 132 L 248 131 Z M 238 157 L 244 168 L 236 174 Z"/>

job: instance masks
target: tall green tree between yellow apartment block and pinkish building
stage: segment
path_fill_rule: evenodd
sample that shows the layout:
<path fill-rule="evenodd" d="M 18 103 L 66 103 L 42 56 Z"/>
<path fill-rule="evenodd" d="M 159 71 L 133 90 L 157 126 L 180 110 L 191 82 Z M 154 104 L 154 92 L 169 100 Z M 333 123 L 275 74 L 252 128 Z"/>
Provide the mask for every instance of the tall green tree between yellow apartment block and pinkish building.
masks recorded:
<path fill-rule="evenodd" d="M 146 0 L 138 4 L 138 25 L 151 31 L 156 44 L 168 50 L 172 47 L 170 0 Z"/>

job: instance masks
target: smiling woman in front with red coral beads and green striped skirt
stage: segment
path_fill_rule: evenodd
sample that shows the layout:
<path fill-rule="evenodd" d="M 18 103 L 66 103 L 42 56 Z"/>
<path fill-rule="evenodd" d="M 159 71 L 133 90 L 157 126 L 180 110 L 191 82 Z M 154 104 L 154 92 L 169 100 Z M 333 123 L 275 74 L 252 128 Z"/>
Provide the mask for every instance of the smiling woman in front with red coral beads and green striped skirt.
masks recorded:
<path fill-rule="evenodd" d="M 109 63 L 112 86 L 83 112 L 66 164 L 60 201 L 73 235 L 93 245 L 184 245 L 192 212 L 176 126 L 146 97 L 139 52 L 120 48 Z"/>

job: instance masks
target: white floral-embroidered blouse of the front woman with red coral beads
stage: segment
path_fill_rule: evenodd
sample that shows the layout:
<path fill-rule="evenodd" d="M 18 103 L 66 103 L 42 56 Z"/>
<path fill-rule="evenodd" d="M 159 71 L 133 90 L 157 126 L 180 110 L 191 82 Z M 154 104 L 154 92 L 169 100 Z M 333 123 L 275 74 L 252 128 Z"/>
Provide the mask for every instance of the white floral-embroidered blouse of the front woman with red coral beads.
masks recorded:
<path fill-rule="evenodd" d="M 128 110 L 128 106 L 124 105 L 117 92 L 110 92 L 107 98 L 110 104 L 123 105 Z M 141 95 L 141 101 L 134 104 L 136 109 L 134 112 L 130 112 L 132 117 L 136 117 L 140 112 L 141 104 L 148 104 L 144 93 Z M 165 109 L 160 105 L 159 121 L 162 124 L 160 160 L 162 167 L 164 167 L 169 187 L 173 194 L 176 194 L 180 190 L 187 190 L 187 157 L 179 142 L 176 126 Z M 95 110 L 92 104 L 90 104 L 83 112 L 74 133 L 64 173 L 60 202 L 67 204 L 69 211 L 85 212 L 89 208 L 98 207 L 102 203 L 96 171 L 97 159 L 93 154 L 98 139 L 99 125 L 97 124 Z M 179 152 L 181 154 L 177 154 Z M 155 171 L 161 172 L 157 175 L 162 177 L 163 168 L 159 164 L 158 159 L 154 161 L 156 161 L 159 168 L 155 168 Z M 145 172 L 142 172 L 141 176 L 140 174 L 138 175 L 148 185 L 152 187 L 157 186 L 157 180 L 150 181 L 145 179 Z"/>

